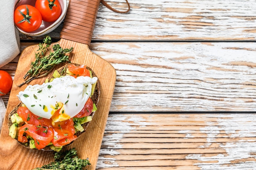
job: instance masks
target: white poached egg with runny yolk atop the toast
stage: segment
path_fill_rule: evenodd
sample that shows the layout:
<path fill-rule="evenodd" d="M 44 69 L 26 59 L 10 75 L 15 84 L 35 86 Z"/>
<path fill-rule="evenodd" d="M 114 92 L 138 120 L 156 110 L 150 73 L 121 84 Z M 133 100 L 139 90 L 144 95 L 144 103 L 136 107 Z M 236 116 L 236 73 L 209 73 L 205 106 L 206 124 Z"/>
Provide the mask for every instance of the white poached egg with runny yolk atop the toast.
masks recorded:
<path fill-rule="evenodd" d="M 17 95 L 33 114 L 53 122 L 74 117 L 84 107 L 97 77 L 64 76 L 42 85 L 28 85 Z"/>

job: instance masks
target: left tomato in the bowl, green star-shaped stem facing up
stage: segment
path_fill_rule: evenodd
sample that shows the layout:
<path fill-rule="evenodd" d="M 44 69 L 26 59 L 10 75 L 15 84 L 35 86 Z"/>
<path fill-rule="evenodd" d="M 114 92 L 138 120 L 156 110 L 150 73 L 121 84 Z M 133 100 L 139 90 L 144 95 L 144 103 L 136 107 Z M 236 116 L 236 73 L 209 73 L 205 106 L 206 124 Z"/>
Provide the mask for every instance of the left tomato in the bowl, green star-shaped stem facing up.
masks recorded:
<path fill-rule="evenodd" d="M 14 24 L 26 32 L 36 31 L 41 23 L 42 16 L 33 6 L 24 4 L 14 10 Z"/>

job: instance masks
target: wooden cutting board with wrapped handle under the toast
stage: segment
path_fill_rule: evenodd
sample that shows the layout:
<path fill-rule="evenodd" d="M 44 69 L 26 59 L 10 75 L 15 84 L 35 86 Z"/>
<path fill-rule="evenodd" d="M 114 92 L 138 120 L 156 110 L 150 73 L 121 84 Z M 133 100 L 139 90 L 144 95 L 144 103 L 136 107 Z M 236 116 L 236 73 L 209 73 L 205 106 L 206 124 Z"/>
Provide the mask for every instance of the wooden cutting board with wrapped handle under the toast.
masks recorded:
<path fill-rule="evenodd" d="M 56 42 L 63 48 L 74 47 L 74 51 L 70 55 L 70 61 L 91 67 L 99 78 L 100 98 L 97 106 L 98 110 L 94 114 L 92 122 L 79 139 L 63 149 L 74 147 L 78 151 L 80 158 L 89 158 L 91 165 L 86 167 L 88 170 L 95 170 L 97 165 L 116 81 L 116 72 L 112 65 L 92 53 L 89 49 L 98 7 L 99 0 L 70 0 L 69 9 L 61 32 L 61 40 Z M 24 49 L 17 65 L 0 134 L 1 170 L 31 170 L 54 160 L 53 151 L 31 150 L 19 145 L 15 139 L 11 139 L 9 136 L 7 125 L 9 112 L 19 103 L 16 95 L 27 86 L 18 87 L 18 85 L 23 82 L 22 77 L 27 72 L 31 61 L 34 61 L 34 54 L 37 49 L 38 45 L 29 46 Z M 45 78 L 35 79 L 30 84 L 42 84 Z"/>

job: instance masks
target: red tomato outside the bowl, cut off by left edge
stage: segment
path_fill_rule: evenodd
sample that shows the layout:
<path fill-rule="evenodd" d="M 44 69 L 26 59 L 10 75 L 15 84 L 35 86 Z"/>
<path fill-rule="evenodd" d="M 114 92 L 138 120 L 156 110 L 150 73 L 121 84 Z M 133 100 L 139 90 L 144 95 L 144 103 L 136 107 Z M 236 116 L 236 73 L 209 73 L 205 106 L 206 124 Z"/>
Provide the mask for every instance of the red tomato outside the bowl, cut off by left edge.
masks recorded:
<path fill-rule="evenodd" d="M 0 70 L 0 96 L 3 96 L 11 91 L 12 78 L 9 73 Z"/>

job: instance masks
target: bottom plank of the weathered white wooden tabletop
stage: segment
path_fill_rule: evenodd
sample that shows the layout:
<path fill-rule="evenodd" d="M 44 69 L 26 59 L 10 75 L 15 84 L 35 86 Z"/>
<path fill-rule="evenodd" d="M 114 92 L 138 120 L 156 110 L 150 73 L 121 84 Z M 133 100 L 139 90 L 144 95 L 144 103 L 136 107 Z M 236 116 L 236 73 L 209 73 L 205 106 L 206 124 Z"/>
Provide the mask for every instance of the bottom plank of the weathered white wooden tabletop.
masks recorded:
<path fill-rule="evenodd" d="M 97 170 L 252 170 L 255 119 L 252 113 L 110 114 Z"/>

